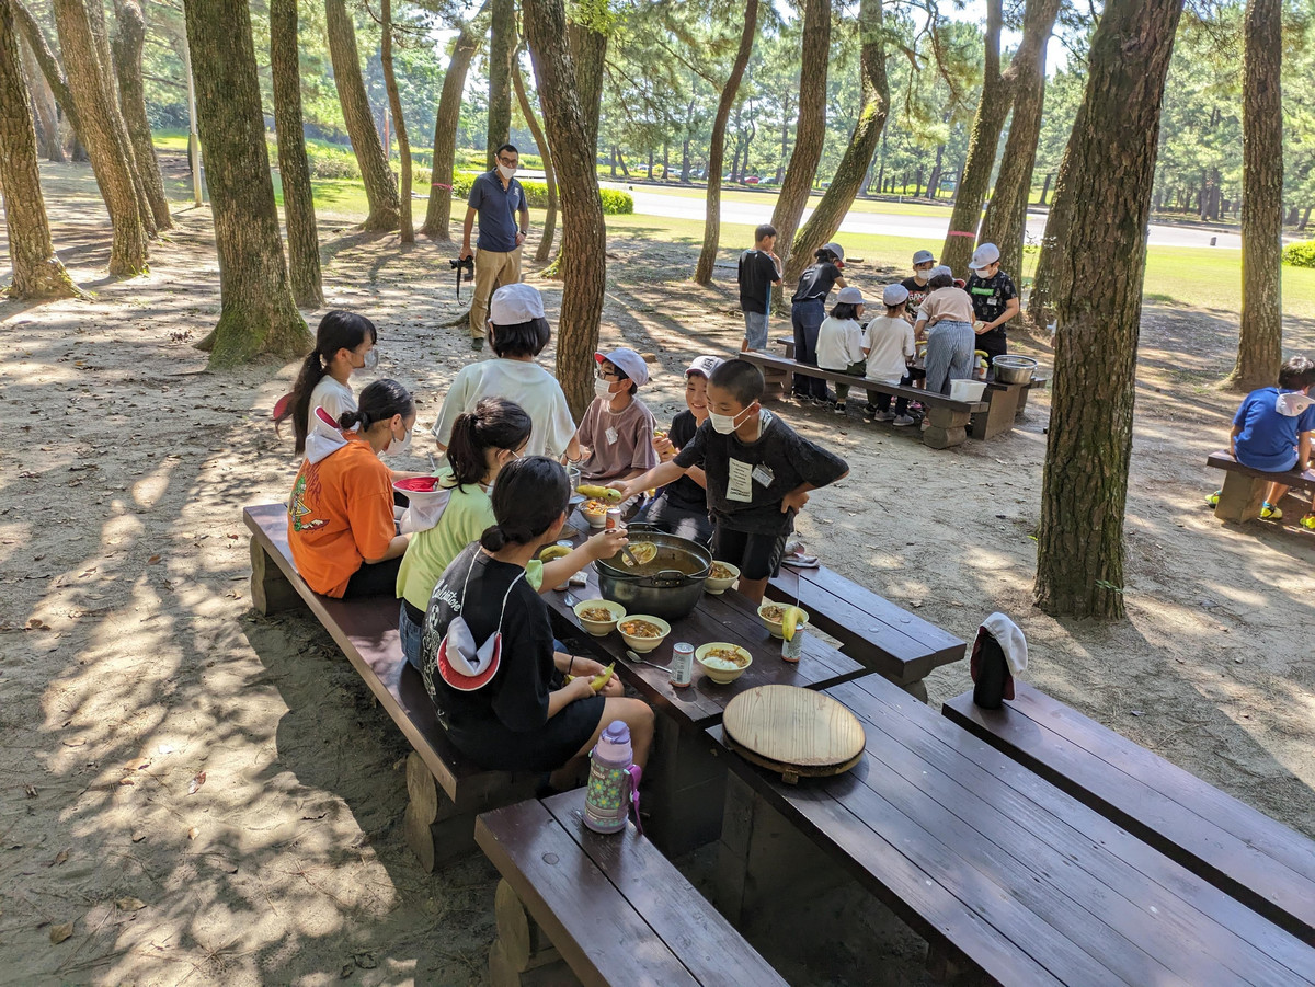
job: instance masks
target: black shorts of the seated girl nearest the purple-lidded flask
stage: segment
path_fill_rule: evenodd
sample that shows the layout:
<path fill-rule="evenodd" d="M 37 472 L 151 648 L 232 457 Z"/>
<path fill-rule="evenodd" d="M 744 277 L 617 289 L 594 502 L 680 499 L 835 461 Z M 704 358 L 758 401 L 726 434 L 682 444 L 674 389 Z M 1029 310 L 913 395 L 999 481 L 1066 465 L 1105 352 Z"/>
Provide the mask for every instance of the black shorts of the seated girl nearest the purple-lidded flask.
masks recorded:
<path fill-rule="evenodd" d="M 576 699 L 538 729 L 508 729 L 498 719 L 448 722 L 458 750 L 489 771 L 555 771 L 579 753 L 598 729 L 606 699 Z"/>

